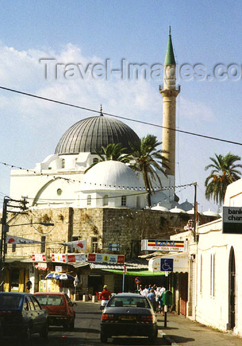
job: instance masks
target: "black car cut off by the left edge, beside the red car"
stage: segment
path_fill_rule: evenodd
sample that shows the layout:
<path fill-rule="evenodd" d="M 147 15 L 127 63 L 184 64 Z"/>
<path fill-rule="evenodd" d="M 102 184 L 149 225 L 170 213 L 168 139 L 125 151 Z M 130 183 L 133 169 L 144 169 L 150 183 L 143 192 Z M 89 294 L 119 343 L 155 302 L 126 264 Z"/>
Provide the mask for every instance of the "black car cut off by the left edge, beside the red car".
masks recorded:
<path fill-rule="evenodd" d="M 27 345 L 34 333 L 47 340 L 49 314 L 34 295 L 0 292 L 0 325 L 0 336 L 16 336 Z"/>

